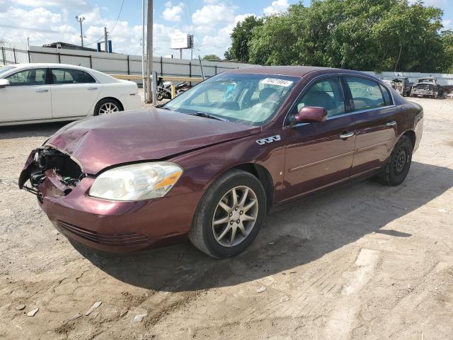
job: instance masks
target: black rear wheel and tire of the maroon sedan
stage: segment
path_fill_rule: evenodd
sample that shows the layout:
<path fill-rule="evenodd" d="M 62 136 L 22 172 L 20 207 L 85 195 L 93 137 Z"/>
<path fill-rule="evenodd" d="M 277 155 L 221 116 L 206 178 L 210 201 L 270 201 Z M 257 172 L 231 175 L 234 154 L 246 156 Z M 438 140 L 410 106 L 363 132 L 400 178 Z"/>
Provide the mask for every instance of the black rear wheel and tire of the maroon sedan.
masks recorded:
<path fill-rule="evenodd" d="M 399 186 L 403 183 L 411 168 L 412 149 L 411 140 L 401 136 L 390 154 L 389 162 L 378 175 L 379 182 L 385 186 Z"/>

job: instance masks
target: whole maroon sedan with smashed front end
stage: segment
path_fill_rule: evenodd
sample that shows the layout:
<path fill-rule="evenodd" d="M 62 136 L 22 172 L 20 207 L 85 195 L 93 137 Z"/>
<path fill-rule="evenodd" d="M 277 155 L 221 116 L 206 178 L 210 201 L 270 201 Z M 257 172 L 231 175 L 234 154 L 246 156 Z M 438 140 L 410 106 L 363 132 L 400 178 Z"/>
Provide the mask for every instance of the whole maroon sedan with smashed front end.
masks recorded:
<path fill-rule="evenodd" d="M 234 256 L 272 207 L 374 175 L 403 182 L 422 130 L 422 108 L 369 74 L 236 69 L 159 108 L 65 126 L 30 154 L 19 186 L 93 248 L 188 237 Z"/>

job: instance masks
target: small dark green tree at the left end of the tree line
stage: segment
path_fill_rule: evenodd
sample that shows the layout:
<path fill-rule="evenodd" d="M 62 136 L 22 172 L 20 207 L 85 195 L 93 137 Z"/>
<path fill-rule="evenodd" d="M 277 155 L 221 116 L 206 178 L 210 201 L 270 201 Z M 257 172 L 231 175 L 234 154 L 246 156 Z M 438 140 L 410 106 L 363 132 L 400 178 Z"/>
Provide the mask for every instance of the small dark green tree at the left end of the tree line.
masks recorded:
<path fill-rule="evenodd" d="M 231 47 L 229 54 L 233 60 L 248 62 L 248 45 L 251 33 L 256 27 L 263 26 L 263 18 L 248 16 L 243 21 L 236 24 L 231 33 Z"/>

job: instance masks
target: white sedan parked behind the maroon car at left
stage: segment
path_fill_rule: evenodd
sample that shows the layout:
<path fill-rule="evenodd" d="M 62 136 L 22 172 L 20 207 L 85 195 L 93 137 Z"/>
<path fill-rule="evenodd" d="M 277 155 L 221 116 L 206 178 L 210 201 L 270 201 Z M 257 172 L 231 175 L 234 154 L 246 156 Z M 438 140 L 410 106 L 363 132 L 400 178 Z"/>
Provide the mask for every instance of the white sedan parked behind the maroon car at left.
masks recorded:
<path fill-rule="evenodd" d="M 14 64 L 0 68 L 0 126 L 77 120 L 140 107 L 133 81 L 86 67 Z"/>

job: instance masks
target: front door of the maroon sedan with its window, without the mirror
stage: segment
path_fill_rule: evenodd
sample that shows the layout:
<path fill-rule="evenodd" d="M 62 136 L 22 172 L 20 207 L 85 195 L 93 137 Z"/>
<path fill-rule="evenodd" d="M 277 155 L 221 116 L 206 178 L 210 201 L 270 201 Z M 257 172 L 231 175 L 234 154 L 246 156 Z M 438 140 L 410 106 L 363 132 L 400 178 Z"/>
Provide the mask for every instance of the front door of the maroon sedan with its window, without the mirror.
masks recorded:
<path fill-rule="evenodd" d="M 355 149 L 355 121 L 345 111 L 338 77 L 319 79 L 299 98 L 290 114 L 304 106 L 326 108 L 321 123 L 287 125 L 283 200 L 295 198 L 347 181 Z"/>

